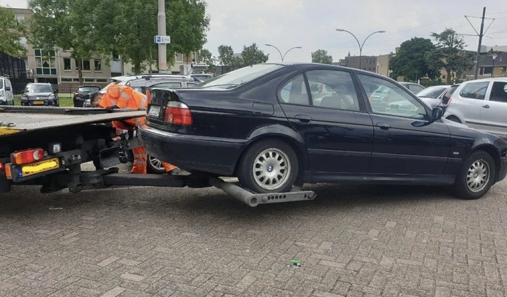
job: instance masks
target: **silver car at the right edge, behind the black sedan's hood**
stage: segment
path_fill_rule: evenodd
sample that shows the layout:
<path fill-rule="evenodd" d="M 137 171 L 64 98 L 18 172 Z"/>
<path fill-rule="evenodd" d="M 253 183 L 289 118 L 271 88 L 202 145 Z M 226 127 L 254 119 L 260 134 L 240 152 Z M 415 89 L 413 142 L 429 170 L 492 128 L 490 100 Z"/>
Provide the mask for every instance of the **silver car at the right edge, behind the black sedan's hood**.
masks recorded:
<path fill-rule="evenodd" d="M 449 99 L 445 118 L 507 138 L 507 77 L 462 82 Z"/>

